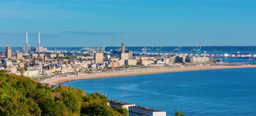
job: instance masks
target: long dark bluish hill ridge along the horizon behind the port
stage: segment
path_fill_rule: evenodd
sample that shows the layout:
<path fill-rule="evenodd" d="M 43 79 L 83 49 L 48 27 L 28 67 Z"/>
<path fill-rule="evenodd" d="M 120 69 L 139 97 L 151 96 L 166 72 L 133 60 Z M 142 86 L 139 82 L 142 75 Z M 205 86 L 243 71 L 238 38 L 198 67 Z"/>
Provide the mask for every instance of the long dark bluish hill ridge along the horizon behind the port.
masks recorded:
<path fill-rule="evenodd" d="M 152 48 L 151 46 L 141 46 L 141 47 L 137 46 L 137 47 L 125 47 L 125 48 L 133 51 L 141 51 L 141 49 L 144 47 L 147 47 L 149 49 Z M 35 47 L 31 47 L 31 48 L 35 48 Z M 57 48 L 57 50 L 80 50 L 83 47 L 47 47 L 48 50 L 54 50 L 54 48 Z M 110 46 L 110 47 L 106 47 L 105 50 L 110 51 L 110 49 L 114 50 L 118 48 L 120 47 Z M 158 48 L 160 49 L 160 46 L 153 47 L 153 49 L 158 49 Z M 172 51 L 173 49 L 176 49 L 176 48 L 178 47 L 164 46 L 162 47 L 162 51 Z M 196 47 L 186 46 L 181 48 L 182 51 L 190 51 L 191 49 L 196 49 Z M 3 50 L 5 50 L 5 47 L 0 47 L 0 51 L 3 51 Z M 12 50 L 22 50 L 22 47 L 12 47 Z M 201 50 L 202 51 L 256 51 L 256 46 L 202 46 Z"/>

